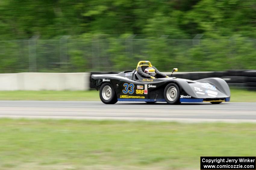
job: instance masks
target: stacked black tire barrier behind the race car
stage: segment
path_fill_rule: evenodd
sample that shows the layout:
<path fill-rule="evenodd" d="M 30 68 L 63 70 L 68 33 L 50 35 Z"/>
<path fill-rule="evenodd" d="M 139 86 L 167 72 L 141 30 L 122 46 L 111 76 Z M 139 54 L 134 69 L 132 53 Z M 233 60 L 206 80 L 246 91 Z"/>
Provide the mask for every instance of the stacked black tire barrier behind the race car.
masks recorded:
<path fill-rule="evenodd" d="M 120 72 L 91 72 L 92 74 L 117 74 Z M 164 72 L 170 76 L 170 72 Z M 256 70 L 226 70 L 214 72 L 176 72 L 173 77 L 199 80 L 209 77 L 218 77 L 225 80 L 230 87 L 256 90 Z M 94 88 L 90 76 L 90 88 Z"/>

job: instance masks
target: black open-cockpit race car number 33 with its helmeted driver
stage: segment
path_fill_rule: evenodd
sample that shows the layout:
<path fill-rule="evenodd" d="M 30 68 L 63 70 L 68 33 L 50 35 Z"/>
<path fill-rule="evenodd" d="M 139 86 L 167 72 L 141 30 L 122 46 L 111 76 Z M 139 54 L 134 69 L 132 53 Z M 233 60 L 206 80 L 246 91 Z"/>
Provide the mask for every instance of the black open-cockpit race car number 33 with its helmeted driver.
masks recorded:
<path fill-rule="evenodd" d="M 92 84 L 99 90 L 105 104 L 117 101 L 167 102 L 211 102 L 220 104 L 230 100 L 227 83 L 220 78 L 196 81 L 169 76 L 158 71 L 149 61 L 139 61 L 135 70 L 118 74 L 92 75 Z"/>

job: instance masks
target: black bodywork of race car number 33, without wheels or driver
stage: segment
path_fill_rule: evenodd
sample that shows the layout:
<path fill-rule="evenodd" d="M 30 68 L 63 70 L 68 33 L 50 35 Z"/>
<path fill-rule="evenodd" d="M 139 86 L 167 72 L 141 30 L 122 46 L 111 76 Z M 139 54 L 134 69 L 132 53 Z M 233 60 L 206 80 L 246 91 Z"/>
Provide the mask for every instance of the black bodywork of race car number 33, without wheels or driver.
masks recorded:
<path fill-rule="evenodd" d="M 175 77 L 146 79 L 136 70 L 118 74 L 92 75 L 92 83 L 98 90 L 103 83 L 110 83 L 119 101 L 165 101 L 164 89 L 169 83 L 180 87 L 180 102 L 229 101 L 230 90 L 220 78 L 196 81 Z"/>

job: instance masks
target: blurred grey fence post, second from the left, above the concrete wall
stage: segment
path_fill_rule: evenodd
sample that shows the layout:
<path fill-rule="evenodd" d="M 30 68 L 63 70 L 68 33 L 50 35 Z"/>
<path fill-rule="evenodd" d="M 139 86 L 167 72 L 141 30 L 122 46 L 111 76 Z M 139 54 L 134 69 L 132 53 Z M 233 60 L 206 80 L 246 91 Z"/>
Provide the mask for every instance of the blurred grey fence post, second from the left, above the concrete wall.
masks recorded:
<path fill-rule="evenodd" d="M 67 40 L 70 36 L 62 36 L 60 38 L 60 65 L 67 69 Z M 67 71 L 67 70 L 66 70 Z"/>

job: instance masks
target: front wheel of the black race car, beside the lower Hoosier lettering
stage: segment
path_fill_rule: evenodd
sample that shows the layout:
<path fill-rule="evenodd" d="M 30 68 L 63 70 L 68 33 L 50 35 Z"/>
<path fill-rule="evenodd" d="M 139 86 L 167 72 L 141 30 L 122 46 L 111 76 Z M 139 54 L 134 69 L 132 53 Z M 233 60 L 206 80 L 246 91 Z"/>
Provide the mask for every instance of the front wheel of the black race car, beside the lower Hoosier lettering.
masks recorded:
<path fill-rule="evenodd" d="M 175 83 L 168 84 L 164 89 L 164 99 L 168 104 L 180 104 L 180 88 Z"/>

